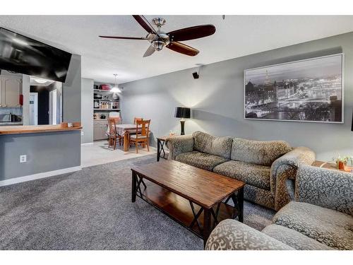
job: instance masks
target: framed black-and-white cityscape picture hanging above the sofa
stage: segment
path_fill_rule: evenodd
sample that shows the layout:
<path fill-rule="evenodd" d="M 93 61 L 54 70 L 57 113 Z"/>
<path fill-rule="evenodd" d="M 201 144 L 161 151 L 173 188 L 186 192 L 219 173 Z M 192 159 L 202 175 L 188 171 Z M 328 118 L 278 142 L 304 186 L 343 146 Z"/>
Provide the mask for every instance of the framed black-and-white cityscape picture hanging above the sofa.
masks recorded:
<path fill-rule="evenodd" d="M 244 118 L 343 123 L 344 54 L 244 71 Z"/>

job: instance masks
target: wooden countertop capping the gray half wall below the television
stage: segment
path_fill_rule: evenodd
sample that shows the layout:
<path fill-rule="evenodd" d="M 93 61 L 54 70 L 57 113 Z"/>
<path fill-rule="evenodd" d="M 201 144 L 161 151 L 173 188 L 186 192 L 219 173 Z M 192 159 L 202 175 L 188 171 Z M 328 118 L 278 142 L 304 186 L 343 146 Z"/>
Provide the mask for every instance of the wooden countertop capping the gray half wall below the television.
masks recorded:
<path fill-rule="evenodd" d="M 77 131 L 82 129 L 80 122 L 73 122 L 72 127 L 68 127 L 66 122 L 58 125 L 26 125 L 26 126 L 1 126 L 2 134 L 37 134 L 54 131 Z"/>

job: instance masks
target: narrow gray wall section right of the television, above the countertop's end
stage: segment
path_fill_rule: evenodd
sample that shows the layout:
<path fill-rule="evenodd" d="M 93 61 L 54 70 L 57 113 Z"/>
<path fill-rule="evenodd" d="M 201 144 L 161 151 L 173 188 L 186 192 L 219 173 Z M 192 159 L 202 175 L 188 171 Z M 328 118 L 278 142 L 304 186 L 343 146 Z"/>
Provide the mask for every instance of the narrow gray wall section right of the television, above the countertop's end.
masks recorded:
<path fill-rule="evenodd" d="M 64 122 L 81 121 L 81 56 L 72 54 L 66 82 L 63 83 Z"/>

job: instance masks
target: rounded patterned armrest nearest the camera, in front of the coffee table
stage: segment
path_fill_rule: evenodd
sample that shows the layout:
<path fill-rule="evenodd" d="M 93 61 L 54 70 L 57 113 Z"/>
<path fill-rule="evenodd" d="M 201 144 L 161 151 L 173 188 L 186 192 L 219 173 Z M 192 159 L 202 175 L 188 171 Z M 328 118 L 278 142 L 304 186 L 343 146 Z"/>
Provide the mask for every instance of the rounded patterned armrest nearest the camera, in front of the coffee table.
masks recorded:
<path fill-rule="evenodd" d="M 207 250 L 282 250 L 288 245 L 255 230 L 237 220 L 222 220 L 211 232 Z"/>

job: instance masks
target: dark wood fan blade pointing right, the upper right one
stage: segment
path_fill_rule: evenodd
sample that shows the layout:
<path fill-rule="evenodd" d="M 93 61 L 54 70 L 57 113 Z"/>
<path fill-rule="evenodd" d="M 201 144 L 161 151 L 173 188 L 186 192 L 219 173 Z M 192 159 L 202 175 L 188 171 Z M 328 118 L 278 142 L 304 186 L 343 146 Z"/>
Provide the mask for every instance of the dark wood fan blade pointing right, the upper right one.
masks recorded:
<path fill-rule="evenodd" d="M 174 30 L 168 33 L 170 39 L 174 42 L 180 40 L 194 40 L 200 37 L 207 37 L 216 32 L 214 25 L 196 25 L 190 28 L 182 28 L 181 30 Z"/>

